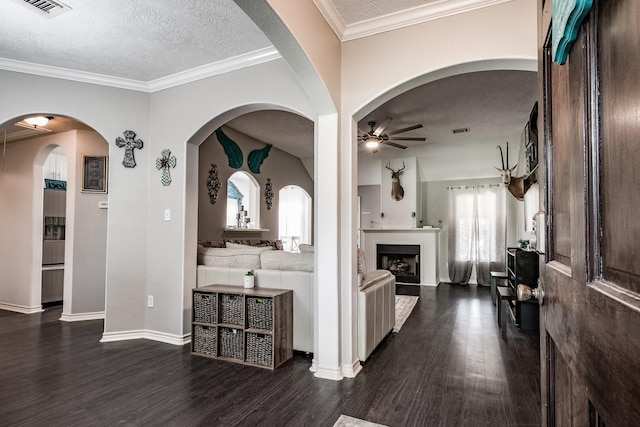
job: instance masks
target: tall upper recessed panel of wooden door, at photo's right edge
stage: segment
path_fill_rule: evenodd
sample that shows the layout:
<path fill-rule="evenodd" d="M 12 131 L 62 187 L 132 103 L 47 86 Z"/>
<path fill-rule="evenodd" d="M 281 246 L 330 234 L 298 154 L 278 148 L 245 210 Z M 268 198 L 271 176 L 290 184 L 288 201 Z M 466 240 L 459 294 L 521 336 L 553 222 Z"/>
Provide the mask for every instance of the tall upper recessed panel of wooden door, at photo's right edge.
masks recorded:
<path fill-rule="evenodd" d="M 640 2 L 601 5 L 602 227 L 604 278 L 640 292 Z M 621 39 L 619 29 L 629 37 Z M 633 52 L 633 54 L 632 54 Z M 628 82 L 628 84 L 619 84 Z M 635 84 L 633 84 L 635 82 Z"/>

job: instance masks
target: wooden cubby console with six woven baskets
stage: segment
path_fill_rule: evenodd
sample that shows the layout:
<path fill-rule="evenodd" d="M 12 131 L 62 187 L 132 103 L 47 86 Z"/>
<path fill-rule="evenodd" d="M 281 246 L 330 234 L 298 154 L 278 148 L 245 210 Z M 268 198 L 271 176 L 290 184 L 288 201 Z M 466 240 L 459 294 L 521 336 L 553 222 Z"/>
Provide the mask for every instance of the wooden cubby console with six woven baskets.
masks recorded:
<path fill-rule="evenodd" d="M 191 352 L 275 369 L 293 356 L 293 291 L 195 288 Z"/>

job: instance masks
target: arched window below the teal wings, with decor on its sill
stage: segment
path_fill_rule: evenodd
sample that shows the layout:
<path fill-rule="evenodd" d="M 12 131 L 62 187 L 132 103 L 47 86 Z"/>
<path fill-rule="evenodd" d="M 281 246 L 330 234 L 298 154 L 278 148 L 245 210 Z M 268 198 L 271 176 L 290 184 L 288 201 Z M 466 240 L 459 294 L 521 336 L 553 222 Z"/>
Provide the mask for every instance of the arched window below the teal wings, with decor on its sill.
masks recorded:
<path fill-rule="evenodd" d="M 227 227 L 260 228 L 260 185 L 246 172 L 227 181 Z"/>

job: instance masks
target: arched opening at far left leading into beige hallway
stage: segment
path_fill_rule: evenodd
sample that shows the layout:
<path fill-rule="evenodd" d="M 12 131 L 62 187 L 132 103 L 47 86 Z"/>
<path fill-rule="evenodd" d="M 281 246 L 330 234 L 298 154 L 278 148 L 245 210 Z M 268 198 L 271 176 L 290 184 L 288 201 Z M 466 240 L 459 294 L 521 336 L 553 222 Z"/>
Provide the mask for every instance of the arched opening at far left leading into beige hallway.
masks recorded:
<path fill-rule="evenodd" d="M 11 179 L 0 180 L 0 199 L 11 200 L 2 217 L 12 227 L 0 236 L 0 254 L 3 281 L 12 280 L 0 301 L 22 313 L 63 301 L 61 320 L 103 318 L 107 193 L 83 191 L 82 174 L 83 154 L 106 161 L 109 145 L 75 119 L 49 118 L 38 128 L 21 125 L 22 117 L 4 126 L 4 176 Z M 49 193 L 58 200 L 50 202 Z"/>

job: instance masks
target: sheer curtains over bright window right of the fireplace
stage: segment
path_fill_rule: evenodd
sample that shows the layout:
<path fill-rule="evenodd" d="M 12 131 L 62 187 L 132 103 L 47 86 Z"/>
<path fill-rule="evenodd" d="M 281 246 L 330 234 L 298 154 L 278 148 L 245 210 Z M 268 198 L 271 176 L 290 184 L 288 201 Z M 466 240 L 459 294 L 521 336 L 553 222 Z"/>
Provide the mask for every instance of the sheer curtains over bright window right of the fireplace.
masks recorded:
<path fill-rule="evenodd" d="M 505 189 L 467 186 L 449 189 L 449 278 L 469 283 L 473 268 L 478 284 L 490 285 L 491 271 L 505 269 Z"/>

